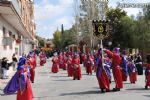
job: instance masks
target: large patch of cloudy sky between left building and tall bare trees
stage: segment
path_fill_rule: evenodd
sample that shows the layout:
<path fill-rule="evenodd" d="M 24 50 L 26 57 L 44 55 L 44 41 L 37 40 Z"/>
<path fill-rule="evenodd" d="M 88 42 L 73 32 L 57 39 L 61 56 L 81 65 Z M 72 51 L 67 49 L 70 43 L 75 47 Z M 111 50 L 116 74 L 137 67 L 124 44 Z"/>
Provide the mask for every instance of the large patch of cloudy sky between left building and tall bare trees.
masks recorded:
<path fill-rule="evenodd" d="M 35 19 L 38 35 L 53 38 L 53 33 L 57 28 L 61 29 L 61 24 L 64 24 L 65 29 L 71 28 L 74 19 L 68 15 L 68 10 L 72 5 L 73 0 L 58 0 L 57 4 L 52 4 L 50 0 L 42 0 L 40 4 L 36 4 Z"/>

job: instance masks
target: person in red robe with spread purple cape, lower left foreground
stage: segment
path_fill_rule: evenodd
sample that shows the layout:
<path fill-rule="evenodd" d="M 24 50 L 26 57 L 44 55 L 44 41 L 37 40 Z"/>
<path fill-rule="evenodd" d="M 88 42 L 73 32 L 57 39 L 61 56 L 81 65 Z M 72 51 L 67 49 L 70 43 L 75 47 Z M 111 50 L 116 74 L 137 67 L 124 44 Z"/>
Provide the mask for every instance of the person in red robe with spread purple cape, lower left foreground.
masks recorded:
<path fill-rule="evenodd" d="M 17 91 L 16 100 L 33 100 L 33 92 L 28 78 L 26 58 L 19 59 L 17 72 L 4 88 L 4 94 L 14 94 Z"/>

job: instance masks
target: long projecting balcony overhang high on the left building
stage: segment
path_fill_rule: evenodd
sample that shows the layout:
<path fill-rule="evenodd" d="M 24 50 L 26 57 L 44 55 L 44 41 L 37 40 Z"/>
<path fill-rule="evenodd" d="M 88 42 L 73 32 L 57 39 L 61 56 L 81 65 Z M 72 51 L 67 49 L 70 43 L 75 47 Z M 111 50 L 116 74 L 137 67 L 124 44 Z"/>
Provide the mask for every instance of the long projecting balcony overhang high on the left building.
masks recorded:
<path fill-rule="evenodd" d="M 16 3 L 15 3 L 16 2 Z M 29 38 L 30 40 L 33 37 L 30 33 L 26 30 L 21 17 L 19 16 L 19 7 L 15 7 L 17 5 L 17 0 L 0 0 L 0 13 L 1 16 L 10 24 L 12 25 L 20 34 L 24 37 Z M 18 3 L 19 5 L 19 3 Z M 18 9 L 18 11 L 16 10 Z"/>

